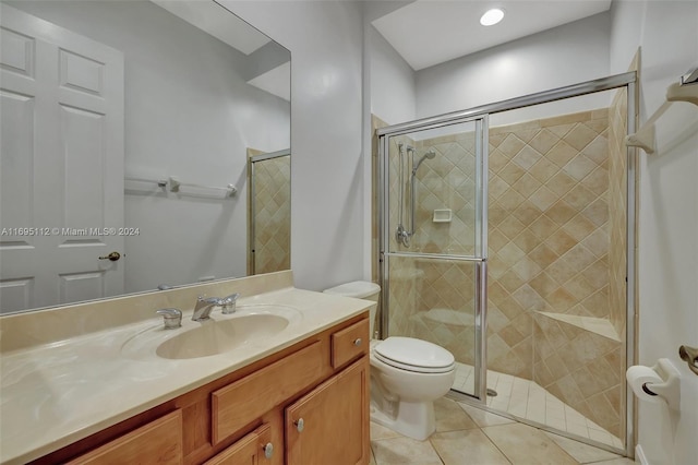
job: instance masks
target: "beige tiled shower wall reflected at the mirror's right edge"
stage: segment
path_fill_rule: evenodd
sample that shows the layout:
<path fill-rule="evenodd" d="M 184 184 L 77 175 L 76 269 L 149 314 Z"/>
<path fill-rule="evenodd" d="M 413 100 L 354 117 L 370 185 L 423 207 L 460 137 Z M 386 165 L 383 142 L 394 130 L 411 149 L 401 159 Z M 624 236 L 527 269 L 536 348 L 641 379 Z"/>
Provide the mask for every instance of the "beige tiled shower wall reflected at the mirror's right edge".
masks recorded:
<path fill-rule="evenodd" d="M 254 273 L 291 269 L 290 156 L 255 163 Z"/>

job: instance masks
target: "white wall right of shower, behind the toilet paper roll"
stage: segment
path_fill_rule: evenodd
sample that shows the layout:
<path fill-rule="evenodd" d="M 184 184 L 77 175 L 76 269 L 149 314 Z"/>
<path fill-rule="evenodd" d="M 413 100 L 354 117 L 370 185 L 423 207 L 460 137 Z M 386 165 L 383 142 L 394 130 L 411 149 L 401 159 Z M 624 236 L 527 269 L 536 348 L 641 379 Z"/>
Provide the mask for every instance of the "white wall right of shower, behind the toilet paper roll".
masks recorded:
<path fill-rule="evenodd" d="M 698 65 L 698 3 L 615 1 L 611 70 L 641 47 L 640 123 L 666 87 Z M 698 457 L 698 377 L 678 357 L 698 346 L 698 107 L 674 104 L 657 123 L 657 154 L 639 152 L 639 360 L 669 358 L 682 372 L 681 412 L 639 403 L 638 443 L 653 465 Z"/>

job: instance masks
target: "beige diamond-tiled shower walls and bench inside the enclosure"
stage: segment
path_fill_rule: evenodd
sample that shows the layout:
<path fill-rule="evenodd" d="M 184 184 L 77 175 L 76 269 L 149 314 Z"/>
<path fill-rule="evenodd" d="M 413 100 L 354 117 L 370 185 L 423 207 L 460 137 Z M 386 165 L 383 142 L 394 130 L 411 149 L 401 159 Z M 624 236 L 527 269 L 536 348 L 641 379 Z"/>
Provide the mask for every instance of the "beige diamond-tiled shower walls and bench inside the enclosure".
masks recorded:
<path fill-rule="evenodd" d="M 534 380 L 614 434 L 622 431 L 625 370 L 619 94 L 610 109 L 491 128 L 489 172 L 488 368 Z M 417 147 L 418 158 L 437 153 L 418 171 L 409 250 L 471 253 L 473 133 L 402 142 Z M 392 226 L 397 199 L 395 183 Z M 450 208 L 452 222 L 434 223 L 437 208 Z M 472 363 L 473 265 L 401 262 L 390 269 L 390 334 L 432 341 Z M 604 331 L 588 331 L 594 325 Z"/>

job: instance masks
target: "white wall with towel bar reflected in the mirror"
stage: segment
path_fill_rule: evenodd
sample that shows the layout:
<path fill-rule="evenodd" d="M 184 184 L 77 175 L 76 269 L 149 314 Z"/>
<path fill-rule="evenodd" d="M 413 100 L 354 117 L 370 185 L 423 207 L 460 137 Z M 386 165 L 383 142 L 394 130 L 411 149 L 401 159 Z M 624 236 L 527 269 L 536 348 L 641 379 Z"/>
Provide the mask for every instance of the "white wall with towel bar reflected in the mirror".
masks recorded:
<path fill-rule="evenodd" d="M 125 196 L 125 291 L 246 272 L 246 147 L 289 146 L 288 102 L 244 82 L 244 56 L 146 1 L 12 2 L 125 60 L 127 177 L 234 183 L 234 200 Z"/>

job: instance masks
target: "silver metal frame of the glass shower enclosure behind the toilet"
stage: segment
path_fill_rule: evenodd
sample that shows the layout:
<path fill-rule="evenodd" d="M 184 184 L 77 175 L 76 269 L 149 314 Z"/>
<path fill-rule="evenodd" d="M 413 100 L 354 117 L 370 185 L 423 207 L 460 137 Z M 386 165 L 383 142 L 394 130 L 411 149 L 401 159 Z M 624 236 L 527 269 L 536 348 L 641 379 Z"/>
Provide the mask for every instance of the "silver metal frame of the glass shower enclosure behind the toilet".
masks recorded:
<path fill-rule="evenodd" d="M 626 127 L 627 134 L 631 134 L 636 131 L 637 119 L 637 72 L 629 71 L 626 73 L 615 74 L 598 80 L 586 81 L 578 84 L 573 84 L 565 87 L 558 87 L 550 91 L 543 91 L 535 94 L 529 94 L 521 97 L 515 97 L 507 100 L 502 100 L 493 104 L 482 105 L 466 110 L 447 112 L 434 117 L 422 118 L 414 121 L 405 123 L 388 126 L 376 130 L 378 136 L 378 241 L 380 241 L 380 282 L 381 282 L 381 337 L 387 337 L 387 329 L 389 327 L 389 289 L 388 289 L 388 261 L 390 257 L 423 257 L 431 259 L 452 259 L 452 260 L 467 260 L 479 261 L 473 259 L 464 259 L 453 255 L 441 254 L 416 254 L 416 253 L 394 253 L 389 252 L 388 243 L 390 240 L 390 231 L 388 230 L 389 217 L 388 217 L 388 141 L 390 136 L 406 134 L 410 132 L 436 129 L 445 126 L 456 124 L 460 122 L 468 122 L 473 120 L 484 121 L 483 139 L 484 150 L 482 165 L 484 166 L 483 179 L 481 186 L 484 187 L 484 199 L 482 202 L 477 202 L 483 206 L 480 217 L 484 224 L 476 225 L 476 230 L 482 230 L 482 245 L 483 260 L 478 264 L 477 281 L 476 281 L 476 355 L 474 355 L 474 398 L 467 396 L 467 398 L 474 403 L 477 406 L 495 412 L 500 415 L 507 415 L 496 409 L 488 407 L 488 394 L 486 394 L 486 302 L 488 302 L 488 288 L 486 288 L 486 180 L 488 180 L 488 130 L 489 130 L 489 116 L 508 110 L 515 110 L 519 108 L 530 107 L 533 105 L 540 105 L 551 103 L 555 100 L 562 100 L 565 98 L 579 97 L 597 92 L 612 91 L 612 90 L 626 90 L 627 96 L 627 115 Z M 626 135 L 627 135 L 626 134 Z M 637 150 L 626 146 L 626 159 L 627 159 L 627 186 L 626 186 L 626 326 L 625 326 L 625 347 L 626 347 L 626 370 L 635 363 L 636 347 L 635 347 L 635 333 L 636 333 L 636 286 L 637 286 L 637 273 L 636 273 L 636 224 L 637 224 Z M 479 170 L 480 172 L 480 170 Z M 477 247 L 476 247 L 477 249 Z M 625 377 L 623 377 L 625 378 Z M 466 397 L 466 396 L 464 396 Z M 617 450 L 613 446 L 607 446 L 597 442 L 591 442 L 592 445 L 603 446 L 604 449 L 614 452 L 624 452 L 627 456 L 633 456 L 634 442 L 635 442 L 635 408 L 634 408 L 634 394 L 633 391 L 626 385 L 626 401 L 625 401 L 625 444 L 624 450 Z M 512 417 L 513 418 L 513 417 Z M 520 419 L 519 419 L 520 420 Z M 526 421 L 524 421 L 526 422 Z M 569 436 L 565 431 L 559 431 L 555 428 L 535 425 L 543 427 L 545 430 L 551 430 L 561 436 Z M 580 440 L 578 437 L 573 437 L 576 440 Z M 587 442 L 587 441 L 585 441 Z"/>

